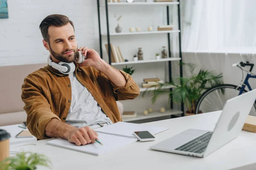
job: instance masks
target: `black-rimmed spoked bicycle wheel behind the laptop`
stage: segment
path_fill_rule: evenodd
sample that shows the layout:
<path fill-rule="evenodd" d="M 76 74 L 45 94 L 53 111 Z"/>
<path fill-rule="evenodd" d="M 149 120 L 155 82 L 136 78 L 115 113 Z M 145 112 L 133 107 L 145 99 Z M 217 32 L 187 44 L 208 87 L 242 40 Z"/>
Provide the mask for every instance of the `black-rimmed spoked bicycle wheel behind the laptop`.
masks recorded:
<path fill-rule="evenodd" d="M 225 102 L 239 95 L 241 88 L 236 85 L 223 84 L 212 87 L 204 92 L 198 100 L 195 114 L 199 111 L 204 113 L 220 111 L 223 109 Z M 247 91 L 244 90 L 243 93 Z M 256 116 L 256 103 L 254 103 L 249 115 Z"/>

